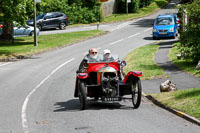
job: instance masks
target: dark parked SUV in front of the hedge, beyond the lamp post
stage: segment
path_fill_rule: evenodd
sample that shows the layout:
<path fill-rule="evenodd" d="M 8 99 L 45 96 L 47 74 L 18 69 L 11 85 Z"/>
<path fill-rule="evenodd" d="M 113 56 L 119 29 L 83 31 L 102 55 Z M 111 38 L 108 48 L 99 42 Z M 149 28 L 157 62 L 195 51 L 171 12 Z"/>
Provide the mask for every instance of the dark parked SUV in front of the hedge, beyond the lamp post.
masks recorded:
<path fill-rule="evenodd" d="M 69 25 L 68 17 L 61 12 L 43 13 L 36 17 L 38 29 L 60 28 L 64 30 Z M 26 21 L 27 25 L 33 26 L 33 20 Z"/>

